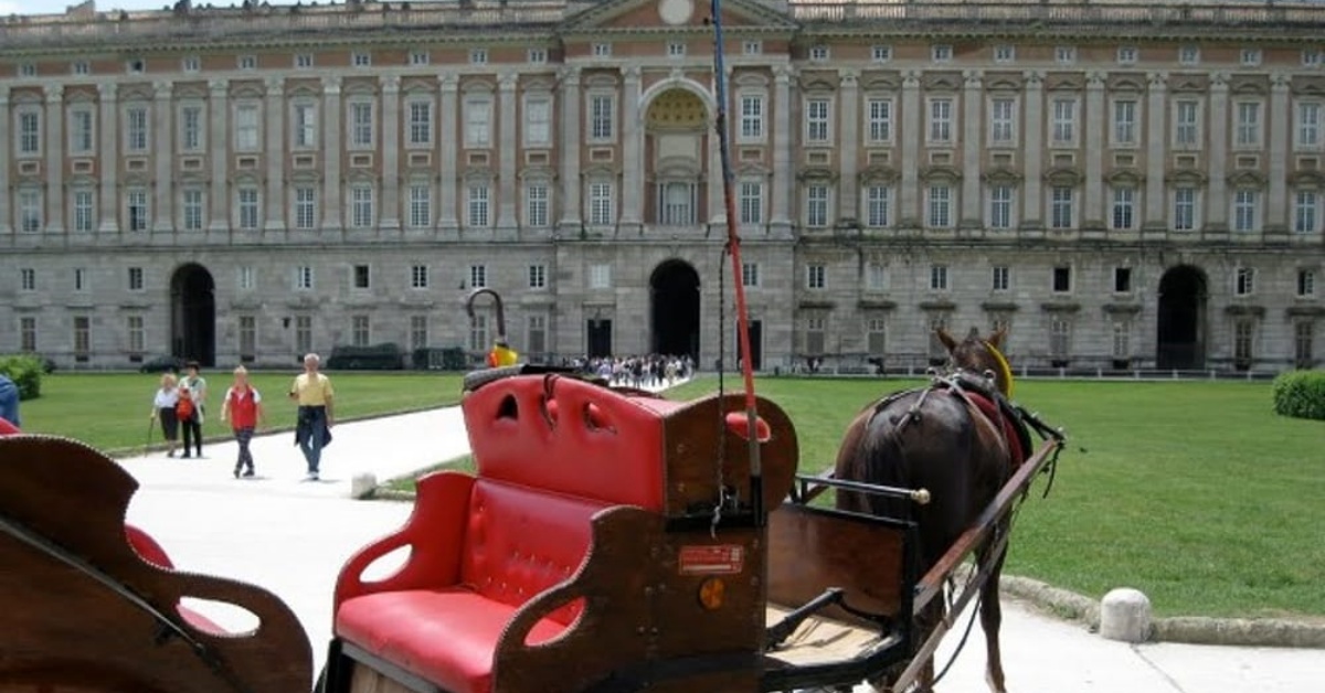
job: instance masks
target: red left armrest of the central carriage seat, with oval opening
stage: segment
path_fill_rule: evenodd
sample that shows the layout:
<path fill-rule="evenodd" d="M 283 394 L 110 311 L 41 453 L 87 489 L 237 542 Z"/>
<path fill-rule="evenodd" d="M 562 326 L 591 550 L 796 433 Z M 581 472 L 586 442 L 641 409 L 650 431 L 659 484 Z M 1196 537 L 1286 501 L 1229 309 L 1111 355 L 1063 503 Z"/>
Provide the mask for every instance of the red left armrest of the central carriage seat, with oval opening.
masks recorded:
<path fill-rule="evenodd" d="M 333 612 L 355 596 L 457 584 L 473 485 L 474 478 L 460 472 L 435 472 L 420 478 L 415 507 L 404 526 L 360 549 L 341 568 Z M 364 579 L 363 572 L 372 563 L 403 547 L 409 549 L 409 557 L 399 570 L 380 580 Z"/>

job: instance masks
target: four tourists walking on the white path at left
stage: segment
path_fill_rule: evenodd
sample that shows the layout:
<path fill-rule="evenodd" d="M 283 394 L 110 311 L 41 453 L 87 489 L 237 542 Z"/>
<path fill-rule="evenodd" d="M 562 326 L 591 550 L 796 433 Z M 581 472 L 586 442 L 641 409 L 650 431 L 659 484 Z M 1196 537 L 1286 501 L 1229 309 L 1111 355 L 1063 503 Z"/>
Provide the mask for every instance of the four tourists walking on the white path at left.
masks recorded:
<path fill-rule="evenodd" d="M 322 448 L 331 441 L 334 417 L 334 396 L 331 379 L 319 372 L 322 359 L 317 354 L 303 356 L 303 372 L 290 384 L 289 398 L 298 405 L 295 415 L 294 441 L 307 464 L 307 481 L 318 481 L 322 462 Z M 200 374 L 200 366 L 191 360 L 184 366 L 184 376 L 162 375 L 160 387 L 152 398 L 150 421 L 155 427 L 160 421 L 162 436 L 166 439 L 166 456 L 175 457 L 175 445 L 183 431 L 184 445 L 182 458 L 203 457 L 203 421 L 207 416 L 207 379 Z M 233 371 L 235 380 L 221 399 L 221 421 L 231 424 L 235 441 L 238 443 L 238 457 L 235 460 L 235 478 L 252 478 L 257 474 L 253 465 L 250 443 L 260 425 L 266 425 L 266 412 L 262 408 L 262 395 L 249 383 L 248 368 L 238 366 Z"/>

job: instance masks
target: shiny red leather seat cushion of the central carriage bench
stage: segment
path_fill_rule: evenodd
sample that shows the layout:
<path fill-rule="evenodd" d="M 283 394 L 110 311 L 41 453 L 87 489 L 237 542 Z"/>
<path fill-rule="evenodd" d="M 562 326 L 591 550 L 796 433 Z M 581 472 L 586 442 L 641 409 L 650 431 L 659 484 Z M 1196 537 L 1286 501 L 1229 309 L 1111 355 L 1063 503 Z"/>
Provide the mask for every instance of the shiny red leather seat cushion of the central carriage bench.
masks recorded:
<path fill-rule="evenodd" d="M 514 613 L 515 607 L 464 588 L 379 592 L 346 602 L 337 613 L 337 635 L 449 693 L 488 693 L 493 652 Z M 564 629 L 543 619 L 529 641 Z"/>

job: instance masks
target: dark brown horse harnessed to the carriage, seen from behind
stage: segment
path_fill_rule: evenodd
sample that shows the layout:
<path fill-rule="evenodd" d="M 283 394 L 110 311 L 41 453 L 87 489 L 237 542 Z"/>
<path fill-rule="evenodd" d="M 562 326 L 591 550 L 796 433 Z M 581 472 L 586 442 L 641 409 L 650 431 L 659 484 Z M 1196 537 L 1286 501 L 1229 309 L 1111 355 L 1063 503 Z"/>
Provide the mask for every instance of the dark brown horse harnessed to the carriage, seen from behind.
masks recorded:
<path fill-rule="evenodd" d="M 957 376 L 963 380 L 992 386 L 987 392 L 992 399 L 1010 395 L 1012 374 L 999 351 L 1004 330 L 980 338 L 979 331 L 971 329 L 961 342 L 942 329 L 935 334 L 947 348 L 950 374 L 961 371 Z M 1002 421 L 982 413 L 973 398 L 951 392 L 957 390 L 954 378 L 935 378 L 931 387 L 896 394 L 863 409 L 848 425 L 835 465 L 835 476 L 840 480 L 930 492 L 930 502 L 914 507 L 913 515 L 918 527 L 921 575 L 994 500 L 1022 461 L 1014 458 L 1020 457 L 1014 451 L 1024 448 L 1016 441 L 1010 444 Z M 859 492 L 839 492 L 836 502 L 840 510 L 908 517 L 912 509 L 901 504 L 910 501 Z M 988 645 L 987 681 L 994 693 L 1004 693 L 998 583 L 1007 550 L 1004 545 L 999 555 L 990 555 L 991 550 L 986 542 L 975 553 L 980 564 L 992 562 L 992 572 L 980 590 L 979 615 Z M 920 641 L 929 637 L 943 617 L 943 600 L 935 598 L 921 611 L 916 619 Z M 933 655 L 925 661 L 917 682 L 918 690 L 933 690 Z M 884 685 L 882 690 L 892 689 Z"/>

